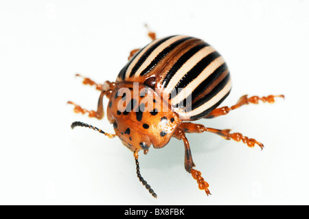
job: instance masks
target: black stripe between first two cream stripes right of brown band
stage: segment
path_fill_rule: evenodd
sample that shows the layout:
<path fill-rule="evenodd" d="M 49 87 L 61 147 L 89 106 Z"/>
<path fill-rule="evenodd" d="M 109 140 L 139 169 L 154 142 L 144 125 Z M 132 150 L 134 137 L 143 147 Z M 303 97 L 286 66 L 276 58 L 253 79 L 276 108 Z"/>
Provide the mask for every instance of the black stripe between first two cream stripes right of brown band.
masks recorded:
<path fill-rule="evenodd" d="M 196 65 L 194 65 L 194 67 L 190 69 L 190 71 L 187 71 L 187 73 L 185 73 L 185 76 L 183 76 L 183 78 L 180 78 L 178 84 L 176 84 L 174 89 L 177 91 L 180 88 L 186 87 L 187 84 L 197 78 L 202 73 L 202 71 L 219 56 L 220 54 L 218 53 L 218 51 L 214 51 L 211 54 L 202 58 L 202 60 L 200 60 Z M 172 91 L 170 98 L 175 96 L 176 92 Z"/>

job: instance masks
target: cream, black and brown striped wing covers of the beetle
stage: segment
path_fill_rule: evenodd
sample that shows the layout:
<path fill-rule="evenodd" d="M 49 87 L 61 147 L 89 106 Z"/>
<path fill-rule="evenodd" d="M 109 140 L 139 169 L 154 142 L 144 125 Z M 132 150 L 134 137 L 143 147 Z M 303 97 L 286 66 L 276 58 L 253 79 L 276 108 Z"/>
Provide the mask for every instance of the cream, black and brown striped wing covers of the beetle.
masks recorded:
<path fill-rule="evenodd" d="M 209 44 L 189 36 L 159 38 L 139 49 L 119 72 L 117 82 L 144 83 L 165 97 L 183 120 L 205 117 L 231 90 L 229 69 Z"/>

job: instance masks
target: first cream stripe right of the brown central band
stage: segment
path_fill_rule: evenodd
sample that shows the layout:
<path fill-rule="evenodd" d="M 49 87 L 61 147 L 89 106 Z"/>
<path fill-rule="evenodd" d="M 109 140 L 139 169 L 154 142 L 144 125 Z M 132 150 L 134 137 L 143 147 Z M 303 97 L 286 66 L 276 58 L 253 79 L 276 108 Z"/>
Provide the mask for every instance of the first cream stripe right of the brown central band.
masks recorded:
<path fill-rule="evenodd" d="M 183 66 L 178 69 L 178 71 L 174 74 L 170 82 L 168 83 L 168 87 L 164 90 L 164 93 L 171 93 L 176 84 L 185 76 L 187 71 L 192 69 L 196 63 L 198 63 L 202 58 L 205 58 L 205 56 L 208 56 L 212 52 L 216 51 L 213 47 L 208 46 L 204 47 L 200 51 L 198 51 L 196 54 L 194 54 Z"/>

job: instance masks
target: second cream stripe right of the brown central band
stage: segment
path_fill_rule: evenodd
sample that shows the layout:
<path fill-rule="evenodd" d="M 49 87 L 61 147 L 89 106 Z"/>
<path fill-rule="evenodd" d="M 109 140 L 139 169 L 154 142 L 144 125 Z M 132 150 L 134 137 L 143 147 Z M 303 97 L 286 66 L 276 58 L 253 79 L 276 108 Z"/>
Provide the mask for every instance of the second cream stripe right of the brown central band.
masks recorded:
<path fill-rule="evenodd" d="M 201 84 L 201 82 L 206 80 L 206 78 L 208 78 L 211 75 L 211 73 L 214 73 L 214 71 L 216 71 L 216 69 L 218 69 L 218 67 L 220 67 L 220 65 L 222 65 L 224 62 L 225 60 L 223 60 L 222 56 L 219 56 L 214 61 L 212 61 L 198 75 L 198 77 L 196 77 L 194 80 L 192 80 L 192 82 L 187 84 L 185 88 L 181 89 L 181 92 L 179 92 L 174 98 L 172 98 L 171 104 L 172 105 L 178 104 L 179 102 L 181 102 L 181 100 L 184 100 L 185 98 L 187 98 L 187 96 L 189 96 L 190 93 L 192 93 L 192 91 L 194 91 L 196 87 L 198 87 L 198 85 Z"/>

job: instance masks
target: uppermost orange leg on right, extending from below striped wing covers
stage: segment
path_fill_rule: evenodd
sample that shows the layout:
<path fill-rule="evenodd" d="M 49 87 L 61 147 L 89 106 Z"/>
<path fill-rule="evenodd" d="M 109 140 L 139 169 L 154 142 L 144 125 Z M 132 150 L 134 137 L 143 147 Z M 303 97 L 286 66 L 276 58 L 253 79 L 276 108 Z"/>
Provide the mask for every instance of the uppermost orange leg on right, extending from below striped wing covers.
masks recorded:
<path fill-rule="evenodd" d="M 214 117 L 218 117 L 220 115 L 226 115 L 227 113 L 229 113 L 229 111 L 232 111 L 236 108 L 239 108 L 240 106 L 250 104 L 250 103 L 251 104 L 258 104 L 259 100 L 261 100 L 262 102 L 268 102 L 268 103 L 272 104 L 272 103 L 275 102 L 275 97 L 284 98 L 284 95 L 268 95 L 267 97 L 253 96 L 253 97 L 249 97 L 249 98 L 248 98 L 248 95 L 243 95 L 242 97 L 240 97 L 237 104 L 235 104 L 231 107 L 223 106 L 223 107 L 220 107 L 220 108 L 215 108 L 213 111 L 211 111 L 211 113 L 206 115 L 204 118 L 211 119 L 211 118 L 214 118 Z"/>

